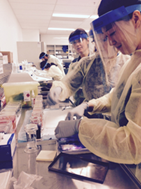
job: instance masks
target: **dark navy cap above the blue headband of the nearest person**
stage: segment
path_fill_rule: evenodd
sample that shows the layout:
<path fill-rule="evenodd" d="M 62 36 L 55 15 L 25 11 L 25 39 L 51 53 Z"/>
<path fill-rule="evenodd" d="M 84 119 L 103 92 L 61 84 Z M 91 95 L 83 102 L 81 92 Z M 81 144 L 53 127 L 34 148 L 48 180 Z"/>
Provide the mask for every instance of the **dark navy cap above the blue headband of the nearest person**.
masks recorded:
<path fill-rule="evenodd" d="M 102 16 L 103 14 L 121 6 L 128 7 L 135 4 L 141 4 L 141 0 L 101 0 L 98 7 L 98 15 Z"/>

